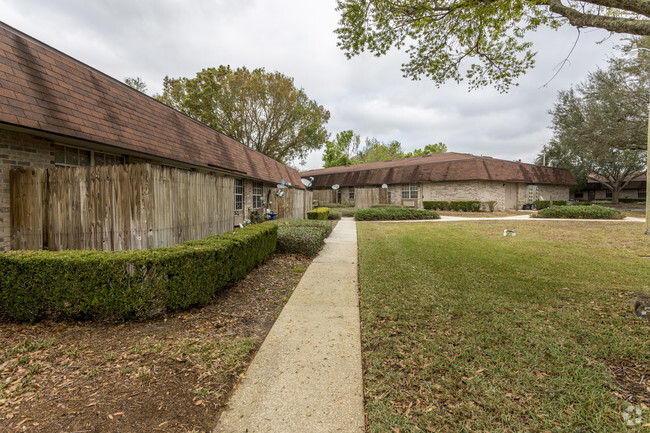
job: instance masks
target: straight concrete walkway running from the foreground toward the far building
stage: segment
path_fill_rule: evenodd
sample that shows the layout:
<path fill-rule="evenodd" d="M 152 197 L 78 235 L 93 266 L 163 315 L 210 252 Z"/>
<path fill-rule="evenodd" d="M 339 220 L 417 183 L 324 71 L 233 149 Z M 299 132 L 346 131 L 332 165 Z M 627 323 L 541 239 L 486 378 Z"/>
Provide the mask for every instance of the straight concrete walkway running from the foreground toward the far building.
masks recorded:
<path fill-rule="evenodd" d="M 339 221 L 269 332 L 215 433 L 365 431 L 357 232 Z"/>

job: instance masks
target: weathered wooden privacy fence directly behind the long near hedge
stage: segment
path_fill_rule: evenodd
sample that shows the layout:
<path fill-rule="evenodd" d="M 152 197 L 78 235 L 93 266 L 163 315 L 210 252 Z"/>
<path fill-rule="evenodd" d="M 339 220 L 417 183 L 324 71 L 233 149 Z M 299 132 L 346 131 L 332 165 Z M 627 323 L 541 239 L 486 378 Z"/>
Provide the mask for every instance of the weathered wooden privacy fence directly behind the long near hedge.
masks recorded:
<path fill-rule="evenodd" d="M 150 164 L 12 170 L 12 249 L 128 250 L 231 230 L 234 179 Z"/>

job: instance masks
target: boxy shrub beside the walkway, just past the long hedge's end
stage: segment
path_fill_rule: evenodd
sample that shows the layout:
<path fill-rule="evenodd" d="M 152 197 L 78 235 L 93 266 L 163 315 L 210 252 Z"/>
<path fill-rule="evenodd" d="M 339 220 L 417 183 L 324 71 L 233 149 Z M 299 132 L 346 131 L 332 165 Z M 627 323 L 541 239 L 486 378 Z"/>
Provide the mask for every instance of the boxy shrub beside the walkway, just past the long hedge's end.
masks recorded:
<path fill-rule="evenodd" d="M 277 251 L 314 255 L 331 232 L 332 224 L 329 221 L 279 220 Z"/>

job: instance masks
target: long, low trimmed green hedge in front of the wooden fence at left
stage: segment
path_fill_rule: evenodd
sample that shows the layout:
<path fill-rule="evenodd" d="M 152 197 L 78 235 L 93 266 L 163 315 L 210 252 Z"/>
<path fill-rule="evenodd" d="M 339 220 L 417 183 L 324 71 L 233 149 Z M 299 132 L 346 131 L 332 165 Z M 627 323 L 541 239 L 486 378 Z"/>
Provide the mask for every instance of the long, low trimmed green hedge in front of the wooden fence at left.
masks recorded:
<path fill-rule="evenodd" d="M 32 322 L 46 313 L 126 320 L 204 305 L 276 240 L 277 226 L 264 223 L 151 250 L 0 253 L 0 310 Z"/>

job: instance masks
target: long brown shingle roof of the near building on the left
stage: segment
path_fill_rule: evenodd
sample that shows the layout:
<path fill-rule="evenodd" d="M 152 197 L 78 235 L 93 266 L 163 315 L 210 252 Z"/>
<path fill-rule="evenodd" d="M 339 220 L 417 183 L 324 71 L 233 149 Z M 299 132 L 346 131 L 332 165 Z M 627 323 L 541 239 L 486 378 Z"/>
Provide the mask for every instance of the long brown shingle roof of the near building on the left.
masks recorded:
<path fill-rule="evenodd" d="M 296 170 L 2 22 L 0 123 L 303 188 Z"/>

